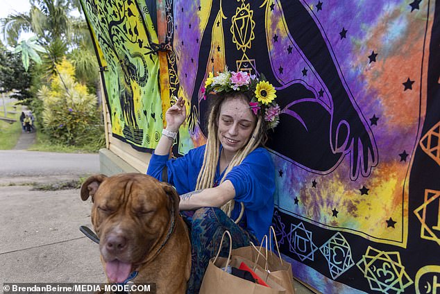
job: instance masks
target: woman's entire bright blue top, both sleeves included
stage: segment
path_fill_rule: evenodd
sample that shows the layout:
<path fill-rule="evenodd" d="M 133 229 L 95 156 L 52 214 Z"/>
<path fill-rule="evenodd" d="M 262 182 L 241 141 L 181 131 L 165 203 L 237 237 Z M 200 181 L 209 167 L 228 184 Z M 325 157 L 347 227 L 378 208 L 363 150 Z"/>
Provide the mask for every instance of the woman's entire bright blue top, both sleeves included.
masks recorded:
<path fill-rule="evenodd" d="M 197 176 L 203 165 L 205 145 L 189 150 L 177 159 L 168 159 L 168 155 L 151 155 L 147 175 L 162 180 L 162 170 L 168 168 L 168 182 L 176 187 L 179 195 L 196 189 Z M 223 173 L 219 173 L 219 164 L 214 182 L 220 182 Z M 273 217 L 273 193 L 275 192 L 275 167 L 269 152 L 262 147 L 256 148 L 226 175 L 235 188 L 236 202 L 244 204 L 246 230 L 253 233 L 259 241 L 267 234 Z M 239 216 L 241 205 L 236 203 L 231 218 Z"/>

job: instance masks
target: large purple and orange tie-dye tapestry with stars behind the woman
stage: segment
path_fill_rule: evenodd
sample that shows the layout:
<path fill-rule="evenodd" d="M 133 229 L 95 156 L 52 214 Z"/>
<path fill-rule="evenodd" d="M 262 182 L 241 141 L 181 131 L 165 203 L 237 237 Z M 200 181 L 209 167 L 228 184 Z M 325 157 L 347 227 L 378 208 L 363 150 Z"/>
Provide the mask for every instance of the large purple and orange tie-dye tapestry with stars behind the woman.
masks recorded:
<path fill-rule="evenodd" d="M 317 291 L 440 291 L 439 6 L 158 1 L 172 49 L 162 99 L 188 101 L 176 153 L 205 142 L 209 71 L 276 87 L 273 225 L 294 276 Z"/>

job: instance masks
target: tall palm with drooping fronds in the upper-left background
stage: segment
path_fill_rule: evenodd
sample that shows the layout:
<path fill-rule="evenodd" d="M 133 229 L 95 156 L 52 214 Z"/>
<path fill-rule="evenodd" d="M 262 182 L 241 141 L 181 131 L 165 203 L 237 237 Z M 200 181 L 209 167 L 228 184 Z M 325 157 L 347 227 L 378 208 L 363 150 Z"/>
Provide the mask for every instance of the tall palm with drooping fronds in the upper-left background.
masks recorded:
<path fill-rule="evenodd" d="M 96 57 L 87 24 L 85 19 L 69 15 L 72 10 L 79 9 L 81 3 L 78 0 L 31 0 L 30 2 L 29 12 L 9 15 L 2 19 L 3 34 L 7 36 L 8 44 L 17 46 L 20 31 L 35 33 L 37 44 L 46 50 L 42 55 L 46 77 L 56 72 L 56 64 L 62 62 L 68 51 L 81 51 L 69 57 L 74 58 L 73 63 L 79 69 L 78 80 L 86 81 L 90 86 L 94 85 L 99 77 L 84 74 L 85 71 L 97 71 Z M 26 56 L 23 56 L 25 61 Z M 28 56 L 37 58 L 35 55 Z"/>

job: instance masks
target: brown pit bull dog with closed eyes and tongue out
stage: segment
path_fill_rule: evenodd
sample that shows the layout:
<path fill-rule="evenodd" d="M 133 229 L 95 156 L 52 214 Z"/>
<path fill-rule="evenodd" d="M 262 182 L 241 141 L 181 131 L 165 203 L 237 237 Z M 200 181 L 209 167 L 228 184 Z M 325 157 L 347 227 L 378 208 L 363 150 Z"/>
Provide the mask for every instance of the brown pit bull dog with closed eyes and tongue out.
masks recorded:
<path fill-rule="evenodd" d="M 141 173 L 94 175 L 81 187 L 81 199 L 89 196 L 108 282 L 122 283 L 137 271 L 135 284 L 185 293 L 191 245 L 176 190 Z"/>

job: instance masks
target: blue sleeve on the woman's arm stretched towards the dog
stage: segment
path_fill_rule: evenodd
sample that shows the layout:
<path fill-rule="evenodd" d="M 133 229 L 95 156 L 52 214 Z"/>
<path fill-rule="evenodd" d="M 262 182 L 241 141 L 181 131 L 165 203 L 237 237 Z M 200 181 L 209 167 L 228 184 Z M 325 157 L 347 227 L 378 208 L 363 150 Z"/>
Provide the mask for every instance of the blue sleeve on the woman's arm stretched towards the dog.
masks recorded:
<path fill-rule="evenodd" d="M 265 148 L 253 150 L 226 175 L 235 188 L 235 200 L 253 211 L 273 205 L 275 167 Z"/>

